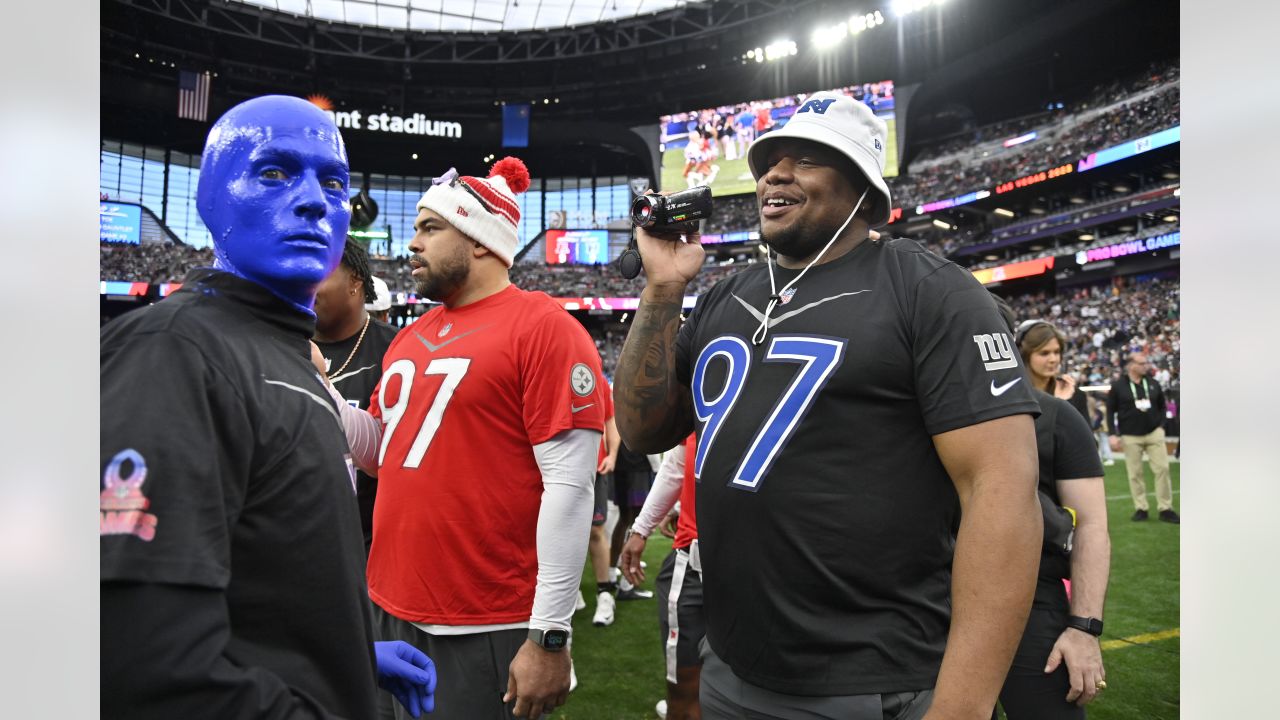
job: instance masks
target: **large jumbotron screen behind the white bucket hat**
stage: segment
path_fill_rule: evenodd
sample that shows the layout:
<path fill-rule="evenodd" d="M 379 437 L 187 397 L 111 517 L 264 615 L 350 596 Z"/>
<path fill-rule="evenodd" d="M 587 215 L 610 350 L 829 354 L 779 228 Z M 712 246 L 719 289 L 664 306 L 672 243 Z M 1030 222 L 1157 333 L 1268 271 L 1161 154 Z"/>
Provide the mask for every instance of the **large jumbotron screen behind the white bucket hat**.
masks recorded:
<path fill-rule="evenodd" d="M 835 91 L 867 102 L 888 126 L 884 177 L 896 177 L 897 118 L 893 113 L 893 81 L 851 85 Z M 662 136 L 658 140 L 658 150 L 662 152 L 662 190 L 675 192 L 708 184 L 718 196 L 755 192 L 755 181 L 746 167 L 746 146 L 760 135 L 785 126 L 809 95 L 812 94 L 801 92 L 773 100 L 753 100 L 663 115 L 659 118 Z M 691 140 L 694 147 L 690 147 Z"/>

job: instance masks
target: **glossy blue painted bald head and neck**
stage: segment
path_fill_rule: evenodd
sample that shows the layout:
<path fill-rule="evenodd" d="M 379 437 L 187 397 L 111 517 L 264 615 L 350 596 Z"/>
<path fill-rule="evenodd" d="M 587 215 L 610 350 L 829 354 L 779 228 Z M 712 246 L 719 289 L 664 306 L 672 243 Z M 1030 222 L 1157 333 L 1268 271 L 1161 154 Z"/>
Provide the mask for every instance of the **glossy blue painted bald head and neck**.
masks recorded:
<path fill-rule="evenodd" d="M 215 266 L 311 313 L 342 260 L 348 184 L 342 136 L 315 105 L 268 95 L 232 108 L 209 132 L 196 195 Z"/>

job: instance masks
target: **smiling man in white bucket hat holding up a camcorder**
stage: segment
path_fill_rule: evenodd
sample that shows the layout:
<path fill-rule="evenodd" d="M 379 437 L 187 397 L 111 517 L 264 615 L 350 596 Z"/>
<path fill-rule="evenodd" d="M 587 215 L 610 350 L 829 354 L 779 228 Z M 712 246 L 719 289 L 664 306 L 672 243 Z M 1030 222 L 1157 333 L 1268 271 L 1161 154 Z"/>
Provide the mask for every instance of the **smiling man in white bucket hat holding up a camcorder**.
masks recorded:
<path fill-rule="evenodd" d="M 698 432 L 703 717 L 986 717 L 1027 621 L 1038 406 L 970 273 L 869 238 L 886 146 L 841 92 L 751 143 L 769 261 L 682 325 L 699 237 L 637 231 L 617 424 Z"/>

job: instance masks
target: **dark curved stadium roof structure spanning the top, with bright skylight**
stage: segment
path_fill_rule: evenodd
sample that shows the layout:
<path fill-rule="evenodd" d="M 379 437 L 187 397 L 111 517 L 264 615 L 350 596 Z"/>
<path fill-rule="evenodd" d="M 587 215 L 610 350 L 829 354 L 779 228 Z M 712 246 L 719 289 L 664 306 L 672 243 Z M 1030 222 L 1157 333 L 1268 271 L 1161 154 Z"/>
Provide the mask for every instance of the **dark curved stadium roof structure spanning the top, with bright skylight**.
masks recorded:
<path fill-rule="evenodd" d="M 643 176 L 653 169 L 648 141 L 630 128 L 655 126 L 663 114 L 892 79 L 899 88 L 918 86 L 899 118 L 910 143 L 960 129 L 955 118 L 983 124 L 1015 117 L 1124 68 L 1178 56 L 1178 13 L 1153 12 L 1143 0 L 947 0 L 904 17 L 892 6 L 104 0 L 101 133 L 198 152 L 207 123 L 174 110 L 179 70 L 196 70 L 212 78 L 210 122 L 248 97 L 289 94 L 324 96 L 335 111 L 466 126 L 461 138 L 348 137 L 353 155 L 379 158 L 379 172 L 389 174 L 422 174 L 412 154 L 431 169 L 479 172 L 481 158 L 502 152 L 502 105 L 527 104 L 531 145 L 524 154 L 541 177 Z M 883 26 L 835 47 L 813 40 L 815 28 L 877 8 Z M 433 13 L 438 29 L 415 28 L 434 22 L 426 19 Z M 499 14 L 502 28 L 490 29 Z M 799 53 L 763 63 L 746 56 L 782 38 Z"/>

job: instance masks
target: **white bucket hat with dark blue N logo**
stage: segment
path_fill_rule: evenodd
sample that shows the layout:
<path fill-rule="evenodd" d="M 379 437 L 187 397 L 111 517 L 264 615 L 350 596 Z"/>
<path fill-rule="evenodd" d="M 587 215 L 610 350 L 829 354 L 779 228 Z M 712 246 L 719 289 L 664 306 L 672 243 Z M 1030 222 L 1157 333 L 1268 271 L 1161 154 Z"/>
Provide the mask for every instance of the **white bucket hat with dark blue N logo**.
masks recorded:
<path fill-rule="evenodd" d="M 760 179 L 765 168 L 768 146 L 785 137 L 812 140 L 832 147 L 854 161 L 870 182 L 870 227 L 888 223 L 892 199 L 884 183 L 884 152 L 888 128 L 872 113 L 870 108 L 844 92 L 823 91 L 808 96 L 787 124 L 769 131 L 746 149 L 746 164 L 751 177 Z"/>

